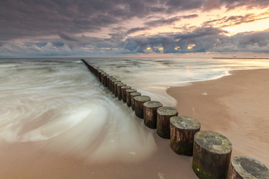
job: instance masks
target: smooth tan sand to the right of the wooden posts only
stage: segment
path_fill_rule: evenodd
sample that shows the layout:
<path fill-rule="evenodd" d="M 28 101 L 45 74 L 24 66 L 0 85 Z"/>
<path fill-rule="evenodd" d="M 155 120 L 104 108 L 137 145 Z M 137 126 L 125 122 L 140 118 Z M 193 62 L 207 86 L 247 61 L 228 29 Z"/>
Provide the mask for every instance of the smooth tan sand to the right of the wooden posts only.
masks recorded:
<path fill-rule="evenodd" d="M 246 155 L 269 165 L 269 69 L 229 70 L 231 75 L 169 87 L 178 101 L 178 115 L 201 123 L 201 130 L 226 136 L 233 144 L 232 157 Z"/>

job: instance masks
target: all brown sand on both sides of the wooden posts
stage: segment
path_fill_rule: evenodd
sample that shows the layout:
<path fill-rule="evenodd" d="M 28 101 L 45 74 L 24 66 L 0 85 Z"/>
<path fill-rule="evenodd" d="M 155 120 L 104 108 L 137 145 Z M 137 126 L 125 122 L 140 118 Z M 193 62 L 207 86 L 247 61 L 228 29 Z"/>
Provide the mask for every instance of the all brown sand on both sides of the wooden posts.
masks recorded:
<path fill-rule="evenodd" d="M 167 93 L 178 101 L 179 115 L 200 121 L 201 130 L 213 130 L 229 138 L 233 143 L 232 156 L 247 155 L 268 166 L 269 70 L 231 73 L 186 87 L 171 87 Z M 175 154 L 169 140 L 160 138 L 156 129 L 146 128 L 143 119 L 137 118 L 135 125 L 145 134 L 153 130 L 157 148 L 151 155 L 131 153 L 124 159 L 91 161 L 83 155 L 61 152 L 67 146 L 62 138 L 68 138 L 68 132 L 38 142 L 0 141 L 0 178 L 197 178 L 192 171 L 192 157 Z"/>

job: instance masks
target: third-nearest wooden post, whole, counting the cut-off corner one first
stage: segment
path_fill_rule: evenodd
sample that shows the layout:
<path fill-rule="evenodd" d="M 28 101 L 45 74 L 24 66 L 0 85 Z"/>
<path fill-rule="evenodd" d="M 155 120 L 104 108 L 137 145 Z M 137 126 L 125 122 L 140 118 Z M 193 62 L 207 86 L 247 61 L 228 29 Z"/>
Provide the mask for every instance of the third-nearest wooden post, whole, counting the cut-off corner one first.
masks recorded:
<path fill-rule="evenodd" d="M 194 118 L 174 116 L 170 118 L 170 146 L 178 155 L 192 156 L 194 135 L 201 124 Z"/>

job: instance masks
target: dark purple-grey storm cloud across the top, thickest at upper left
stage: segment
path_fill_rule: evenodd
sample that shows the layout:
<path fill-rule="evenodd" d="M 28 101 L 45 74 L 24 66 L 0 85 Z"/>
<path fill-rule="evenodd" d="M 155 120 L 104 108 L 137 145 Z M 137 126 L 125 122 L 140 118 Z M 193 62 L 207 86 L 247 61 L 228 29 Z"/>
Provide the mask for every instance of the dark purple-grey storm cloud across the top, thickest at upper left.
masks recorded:
<path fill-rule="evenodd" d="M 2 0 L 0 41 L 57 35 L 58 32 L 96 32 L 134 17 L 146 18 L 160 13 L 211 10 L 221 6 L 264 8 L 268 5 L 268 0 Z"/>

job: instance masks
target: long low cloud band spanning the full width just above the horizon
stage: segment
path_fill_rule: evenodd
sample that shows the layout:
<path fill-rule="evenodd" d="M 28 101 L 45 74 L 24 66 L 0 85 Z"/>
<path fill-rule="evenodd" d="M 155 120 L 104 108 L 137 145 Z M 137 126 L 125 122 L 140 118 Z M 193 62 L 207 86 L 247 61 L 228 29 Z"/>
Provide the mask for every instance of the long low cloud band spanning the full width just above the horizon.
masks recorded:
<path fill-rule="evenodd" d="M 190 32 L 160 33 L 119 38 L 70 36 L 62 34 L 62 45 L 48 42 L 38 47 L 6 43 L 0 46 L 1 57 L 65 56 L 65 55 L 117 55 L 134 53 L 203 53 L 253 52 L 269 53 L 269 29 L 262 32 L 244 32 L 233 36 L 220 28 L 197 27 Z M 68 40 L 65 41 L 64 38 Z M 69 41 L 69 39 L 75 40 Z M 58 41 L 60 41 L 58 39 Z M 60 44 L 59 42 L 57 42 Z M 149 49 L 149 48 L 150 49 Z"/>

